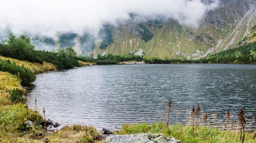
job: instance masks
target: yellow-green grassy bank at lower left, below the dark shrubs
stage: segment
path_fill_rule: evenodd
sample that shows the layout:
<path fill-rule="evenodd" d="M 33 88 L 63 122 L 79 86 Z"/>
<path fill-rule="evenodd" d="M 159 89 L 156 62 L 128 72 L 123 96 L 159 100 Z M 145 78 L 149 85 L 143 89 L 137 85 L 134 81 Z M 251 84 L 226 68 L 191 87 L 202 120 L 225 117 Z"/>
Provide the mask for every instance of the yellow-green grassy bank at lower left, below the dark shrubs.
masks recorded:
<path fill-rule="evenodd" d="M 22 90 L 20 79 L 7 72 L 0 72 L 0 143 L 94 143 L 99 132 L 90 126 L 66 126 L 61 131 L 47 135 L 38 111 L 28 109 L 26 104 L 13 103 L 13 89 Z M 23 95 L 23 98 L 24 95 Z M 25 121 L 32 121 L 27 128 Z"/>

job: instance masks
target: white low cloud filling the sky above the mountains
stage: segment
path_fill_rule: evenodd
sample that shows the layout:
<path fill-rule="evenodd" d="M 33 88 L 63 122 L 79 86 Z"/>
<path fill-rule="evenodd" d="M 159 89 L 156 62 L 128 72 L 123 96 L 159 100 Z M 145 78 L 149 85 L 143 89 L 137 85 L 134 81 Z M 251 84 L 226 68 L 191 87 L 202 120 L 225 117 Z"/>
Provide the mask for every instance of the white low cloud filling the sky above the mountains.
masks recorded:
<path fill-rule="evenodd" d="M 44 36 L 96 34 L 105 23 L 128 20 L 131 12 L 141 17 L 162 15 L 197 27 L 206 12 L 217 7 L 217 0 L 210 5 L 201 0 L 1 0 L 0 31 L 11 28 L 15 34 Z"/>

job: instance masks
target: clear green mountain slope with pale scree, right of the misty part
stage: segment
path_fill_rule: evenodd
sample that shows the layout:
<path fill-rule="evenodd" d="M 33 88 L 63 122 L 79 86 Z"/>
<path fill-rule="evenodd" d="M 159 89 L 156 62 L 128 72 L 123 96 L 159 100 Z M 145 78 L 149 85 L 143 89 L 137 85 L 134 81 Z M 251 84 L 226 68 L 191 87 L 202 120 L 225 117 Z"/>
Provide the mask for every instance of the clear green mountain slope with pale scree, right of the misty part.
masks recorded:
<path fill-rule="evenodd" d="M 226 1 L 222 1 L 223 5 Z M 227 6 L 209 11 L 198 29 L 179 25 L 175 20 L 166 20 L 162 24 L 144 22 L 142 24 L 154 36 L 146 42 L 138 34 L 137 23 L 129 22 L 119 27 L 110 27 L 114 42 L 108 49 L 94 50 L 100 52 L 123 54 L 145 52 L 147 56 L 160 58 L 198 58 L 208 53 L 227 50 L 241 41 L 256 24 L 255 4 L 249 1 L 230 0 Z M 150 23 L 150 24 L 148 24 Z M 160 26 L 159 26 L 160 25 Z M 139 36 L 138 36 L 139 35 Z M 140 50 L 142 49 L 142 50 Z"/>

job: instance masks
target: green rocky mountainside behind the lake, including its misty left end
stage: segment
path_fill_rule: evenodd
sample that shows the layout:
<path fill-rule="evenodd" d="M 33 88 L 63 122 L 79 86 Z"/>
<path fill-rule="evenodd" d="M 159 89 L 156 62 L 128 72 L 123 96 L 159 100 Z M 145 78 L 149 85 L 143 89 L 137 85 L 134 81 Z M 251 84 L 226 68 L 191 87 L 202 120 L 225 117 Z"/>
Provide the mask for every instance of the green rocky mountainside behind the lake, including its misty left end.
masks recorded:
<path fill-rule="evenodd" d="M 104 25 L 98 37 L 65 33 L 57 40 L 32 36 L 32 43 L 38 50 L 72 46 L 79 53 L 94 56 L 135 53 L 162 59 L 200 58 L 233 48 L 256 24 L 256 0 L 220 2 L 220 7 L 209 11 L 196 29 L 161 16 L 137 22 L 136 14 L 130 14 L 131 19 L 119 25 Z"/>

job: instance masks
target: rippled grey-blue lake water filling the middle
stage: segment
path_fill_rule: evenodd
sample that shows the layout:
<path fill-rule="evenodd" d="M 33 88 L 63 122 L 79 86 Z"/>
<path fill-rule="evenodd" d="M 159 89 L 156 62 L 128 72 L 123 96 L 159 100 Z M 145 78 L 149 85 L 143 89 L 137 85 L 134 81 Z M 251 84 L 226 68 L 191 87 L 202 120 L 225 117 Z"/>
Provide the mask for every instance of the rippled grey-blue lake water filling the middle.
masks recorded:
<path fill-rule="evenodd" d="M 46 118 L 98 129 L 165 121 L 169 97 L 171 123 L 182 123 L 192 104 L 219 116 L 256 112 L 255 64 L 97 65 L 39 74 L 34 84 L 30 108 L 37 98 Z"/>

